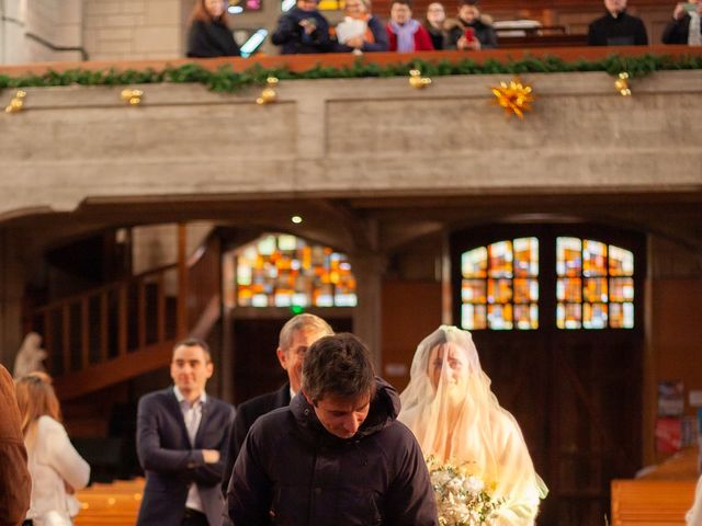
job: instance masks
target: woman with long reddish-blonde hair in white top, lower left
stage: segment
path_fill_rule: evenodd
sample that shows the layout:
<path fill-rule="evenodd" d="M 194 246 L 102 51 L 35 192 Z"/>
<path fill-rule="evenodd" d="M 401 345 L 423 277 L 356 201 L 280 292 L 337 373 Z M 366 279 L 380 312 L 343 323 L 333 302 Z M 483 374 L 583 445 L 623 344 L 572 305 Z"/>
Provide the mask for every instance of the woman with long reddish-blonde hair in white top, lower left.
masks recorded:
<path fill-rule="evenodd" d="M 32 502 L 25 524 L 70 525 L 80 508 L 73 493 L 88 484 L 90 466 L 60 423 L 52 378 L 32 373 L 15 380 L 15 390 L 32 474 Z"/>

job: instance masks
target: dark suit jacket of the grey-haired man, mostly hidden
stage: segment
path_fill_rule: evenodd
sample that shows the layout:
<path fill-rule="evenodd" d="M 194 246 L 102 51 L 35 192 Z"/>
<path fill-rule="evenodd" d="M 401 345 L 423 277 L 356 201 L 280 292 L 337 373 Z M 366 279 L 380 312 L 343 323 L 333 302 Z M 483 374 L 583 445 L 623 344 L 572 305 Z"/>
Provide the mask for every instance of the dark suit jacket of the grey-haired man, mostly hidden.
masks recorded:
<path fill-rule="evenodd" d="M 231 478 L 231 471 L 234 471 L 234 462 L 236 462 L 239 456 L 244 439 L 253 425 L 253 422 L 256 422 L 259 416 L 288 404 L 290 384 L 285 384 L 278 391 L 268 392 L 247 400 L 237 408 L 237 416 L 234 419 L 231 439 L 229 441 L 229 454 L 224 469 L 224 477 L 222 478 L 222 493 L 224 495 L 227 494 L 227 490 L 229 489 L 229 479 Z"/>

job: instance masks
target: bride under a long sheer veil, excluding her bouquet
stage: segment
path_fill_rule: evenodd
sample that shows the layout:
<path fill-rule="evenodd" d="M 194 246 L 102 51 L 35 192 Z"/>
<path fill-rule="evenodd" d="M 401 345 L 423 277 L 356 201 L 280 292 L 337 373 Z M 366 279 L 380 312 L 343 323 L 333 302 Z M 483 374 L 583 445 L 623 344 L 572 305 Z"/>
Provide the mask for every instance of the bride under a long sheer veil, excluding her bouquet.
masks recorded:
<path fill-rule="evenodd" d="M 400 400 L 399 420 L 415 433 L 424 456 L 469 462 L 472 474 L 503 500 L 494 524 L 534 524 L 546 485 L 519 424 L 490 391 L 469 332 L 441 325 L 422 340 Z"/>

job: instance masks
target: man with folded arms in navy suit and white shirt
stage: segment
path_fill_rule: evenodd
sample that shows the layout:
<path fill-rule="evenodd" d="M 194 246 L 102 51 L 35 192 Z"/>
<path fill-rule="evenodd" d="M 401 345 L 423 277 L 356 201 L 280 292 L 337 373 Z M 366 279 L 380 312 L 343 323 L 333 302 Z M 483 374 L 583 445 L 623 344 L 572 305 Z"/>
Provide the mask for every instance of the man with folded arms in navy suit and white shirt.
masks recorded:
<path fill-rule="evenodd" d="M 218 526 L 219 489 L 234 408 L 205 392 L 214 368 L 207 344 L 173 348 L 173 387 L 139 400 L 137 451 L 146 472 L 139 526 Z"/>

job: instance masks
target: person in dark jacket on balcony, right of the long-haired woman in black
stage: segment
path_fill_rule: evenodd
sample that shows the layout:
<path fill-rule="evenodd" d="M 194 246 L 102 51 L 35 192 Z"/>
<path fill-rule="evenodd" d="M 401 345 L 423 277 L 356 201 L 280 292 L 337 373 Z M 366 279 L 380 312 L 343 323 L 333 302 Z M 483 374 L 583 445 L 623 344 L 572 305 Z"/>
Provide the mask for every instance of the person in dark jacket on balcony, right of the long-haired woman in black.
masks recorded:
<path fill-rule="evenodd" d="M 281 55 L 333 50 L 329 22 L 317 11 L 317 0 L 297 0 L 278 21 L 271 42 L 281 46 Z"/>

